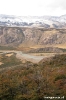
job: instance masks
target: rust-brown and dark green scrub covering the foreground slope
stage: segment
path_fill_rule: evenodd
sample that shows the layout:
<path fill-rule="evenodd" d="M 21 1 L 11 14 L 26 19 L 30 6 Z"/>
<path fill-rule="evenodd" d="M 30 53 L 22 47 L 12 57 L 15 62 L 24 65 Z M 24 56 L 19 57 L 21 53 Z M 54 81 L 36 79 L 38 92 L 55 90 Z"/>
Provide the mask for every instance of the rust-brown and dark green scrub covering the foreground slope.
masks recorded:
<path fill-rule="evenodd" d="M 0 100 L 46 100 L 45 96 L 64 96 L 66 100 L 66 54 L 43 59 L 38 64 L 22 63 L 15 54 L 5 57 L 0 56 L 4 63 L 0 69 L 9 61 L 8 68 L 12 68 L 0 71 Z"/>

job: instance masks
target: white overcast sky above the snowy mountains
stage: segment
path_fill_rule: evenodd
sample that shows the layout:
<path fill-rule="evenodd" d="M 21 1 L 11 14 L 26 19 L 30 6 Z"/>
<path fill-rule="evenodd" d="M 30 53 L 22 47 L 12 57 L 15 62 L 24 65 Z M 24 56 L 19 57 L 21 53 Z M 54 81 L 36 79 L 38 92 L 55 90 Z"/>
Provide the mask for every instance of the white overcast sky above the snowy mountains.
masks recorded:
<path fill-rule="evenodd" d="M 66 0 L 0 0 L 0 14 L 60 16 L 66 14 Z"/>

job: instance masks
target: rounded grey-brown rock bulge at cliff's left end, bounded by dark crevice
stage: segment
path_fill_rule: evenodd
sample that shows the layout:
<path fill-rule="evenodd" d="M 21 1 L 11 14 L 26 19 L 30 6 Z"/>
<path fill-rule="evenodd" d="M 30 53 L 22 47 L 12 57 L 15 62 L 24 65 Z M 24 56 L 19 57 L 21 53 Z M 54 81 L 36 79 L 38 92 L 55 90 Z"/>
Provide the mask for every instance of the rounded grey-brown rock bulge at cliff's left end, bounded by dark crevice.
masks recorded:
<path fill-rule="evenodd" d="M 24 40 L 24 34 L 20 28 L 0 27 L 0 44 L 20 44 Z"/>

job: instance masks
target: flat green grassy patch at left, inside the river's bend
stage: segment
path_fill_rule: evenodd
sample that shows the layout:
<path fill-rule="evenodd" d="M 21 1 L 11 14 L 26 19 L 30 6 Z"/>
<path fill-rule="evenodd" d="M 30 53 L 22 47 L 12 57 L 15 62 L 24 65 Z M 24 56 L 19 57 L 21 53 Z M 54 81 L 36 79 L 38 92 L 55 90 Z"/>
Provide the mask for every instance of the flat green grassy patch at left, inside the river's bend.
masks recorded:
<path fill-rule="evenodd" d="M 3 64 L 0 65 L 0 68 L 20 65 L 22 63 L 19 59 L 16 58 L 15 53 L 11 55 L 10 57 L 7 57 L 6 54 L 3 54 L 1 61 L 3 62 Z"/>

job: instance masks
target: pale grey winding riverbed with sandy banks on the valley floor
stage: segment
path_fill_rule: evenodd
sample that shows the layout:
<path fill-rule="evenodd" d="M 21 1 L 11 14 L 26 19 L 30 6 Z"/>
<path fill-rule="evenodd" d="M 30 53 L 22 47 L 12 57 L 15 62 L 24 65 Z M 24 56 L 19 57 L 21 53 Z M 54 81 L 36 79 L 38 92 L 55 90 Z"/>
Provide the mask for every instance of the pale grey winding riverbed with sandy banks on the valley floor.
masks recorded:
<path fill-rule="evenodd" d="M 31 61 L 33 63 L 38 63 L 43 58 L 49 57 L 49 55 L 34 55 L 34 54 L 27 54 L 23 53 L 22 51 L 16 51 L 16 50 L 0 50 L 0 54 L 7 54 L 7 53 L 16 53 L 16 58 L 20 60 L 26 60 Z"/>

